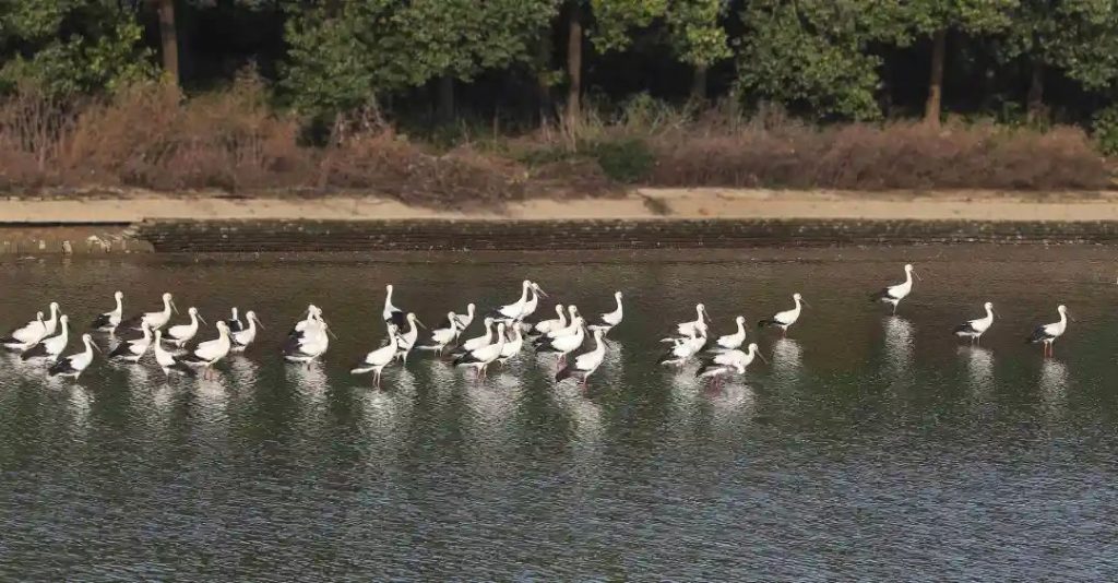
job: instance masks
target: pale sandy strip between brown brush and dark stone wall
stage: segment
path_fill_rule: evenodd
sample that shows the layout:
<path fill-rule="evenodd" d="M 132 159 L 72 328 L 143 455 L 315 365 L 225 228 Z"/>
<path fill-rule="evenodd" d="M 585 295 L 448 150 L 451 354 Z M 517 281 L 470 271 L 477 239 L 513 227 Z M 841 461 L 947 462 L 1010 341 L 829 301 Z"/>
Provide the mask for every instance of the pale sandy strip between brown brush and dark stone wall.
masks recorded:
<path fill-rule="evenodd" d="M 579 219 L 1118 220 L 1118 191 L 842 191 L 636 188 L 615 197 L 536 197 L 494 210 L 408 206 L 375 194 L 314 197 L 121 191 L 94 198 L 0 199 L 0 225 L 126 225 L 144 220 Z"/>

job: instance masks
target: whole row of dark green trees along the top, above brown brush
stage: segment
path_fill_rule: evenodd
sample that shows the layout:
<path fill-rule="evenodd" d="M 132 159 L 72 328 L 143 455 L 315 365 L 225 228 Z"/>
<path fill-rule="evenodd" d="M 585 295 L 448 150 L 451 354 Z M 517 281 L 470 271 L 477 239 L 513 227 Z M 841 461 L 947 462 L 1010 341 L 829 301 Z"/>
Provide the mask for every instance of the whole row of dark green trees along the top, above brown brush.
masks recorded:
<path fill-rule="evenodd" d="M 328 123 L 376 104 L 530 124 L 647 93 L 1112 134 L 1118 0 L 0 0 L 0 91 L 162 72 L 190 94 L 246 66 Z"/>

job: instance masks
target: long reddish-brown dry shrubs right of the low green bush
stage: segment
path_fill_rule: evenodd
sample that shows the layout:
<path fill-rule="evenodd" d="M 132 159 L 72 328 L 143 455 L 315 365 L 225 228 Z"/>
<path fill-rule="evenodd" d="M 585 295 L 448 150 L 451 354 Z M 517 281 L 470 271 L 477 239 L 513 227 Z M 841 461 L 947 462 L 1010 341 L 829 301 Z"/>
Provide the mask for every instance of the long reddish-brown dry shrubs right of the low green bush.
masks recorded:
<path fill-rule="evenodd" d="M 657 186 L 1043 190 L 1108 184 L 1105 160 L 1073 128 L 746 124 L 650 141 L 656 167 L 647 184 Z"/>

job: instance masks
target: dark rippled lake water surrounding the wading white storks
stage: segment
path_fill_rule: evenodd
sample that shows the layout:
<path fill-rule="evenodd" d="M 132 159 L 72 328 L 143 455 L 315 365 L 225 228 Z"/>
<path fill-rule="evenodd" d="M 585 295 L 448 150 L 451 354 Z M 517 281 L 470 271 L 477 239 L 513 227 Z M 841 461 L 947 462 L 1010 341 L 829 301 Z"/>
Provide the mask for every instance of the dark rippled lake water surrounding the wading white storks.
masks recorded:
<path fill-rule="evenodd" d="M 866 294 L 907 261 L 923 280 L 893 318 Z M 0 579 L 1114 580 L 1116 276 L 1110 248 L 1042 246 L 8 260 L 6 330 L 51 299 L 88 322 L 116 289 L 268 329 L 210 380 L 2 357 Z M 383 284 L 437 323 L 524 278 L 586 313 L 625 291 L 585 393 L 530 354 L 485 384 L 421 357 L 382 391 L 348 374 Z M 695 301 L 727 333 L 794 291 L 812 308 L 745 378 L 656 367 Z M 983 348 L 960 346 L 986 300 Z M 340 339 L 284 365 L 310 302 Z M 1023 338 L 1061 302 L 1044 360 Z"/>

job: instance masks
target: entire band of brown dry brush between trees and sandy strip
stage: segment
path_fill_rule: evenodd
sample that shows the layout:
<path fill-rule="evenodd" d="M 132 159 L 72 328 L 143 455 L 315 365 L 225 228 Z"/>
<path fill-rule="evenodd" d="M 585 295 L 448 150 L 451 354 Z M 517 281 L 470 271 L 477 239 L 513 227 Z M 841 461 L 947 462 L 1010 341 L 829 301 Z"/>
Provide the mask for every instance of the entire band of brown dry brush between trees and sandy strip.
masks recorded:
<path fill-rule="evenodd" d="M 189 100 L 160 85 L 80 103 L 17 93 L 0 103 L 0 189 L 344 189 L 470 207 L 538 194 L 608 196 L 623 185 L 1054 190 L 1111 184 L 1107 160 L 1068 126 L 812 126 L 779 114 L 746 117 L 634 100 L 609 114 L 525 132 L 459 124 L 453 139 L 405 132 L 367 111 L 315 140 L 266 96 L 252 79 Z"/>

